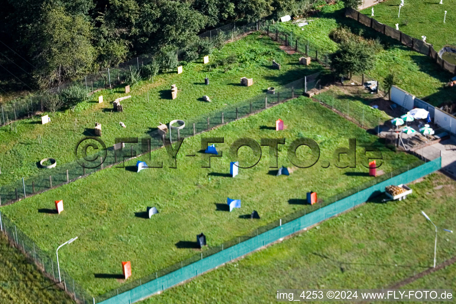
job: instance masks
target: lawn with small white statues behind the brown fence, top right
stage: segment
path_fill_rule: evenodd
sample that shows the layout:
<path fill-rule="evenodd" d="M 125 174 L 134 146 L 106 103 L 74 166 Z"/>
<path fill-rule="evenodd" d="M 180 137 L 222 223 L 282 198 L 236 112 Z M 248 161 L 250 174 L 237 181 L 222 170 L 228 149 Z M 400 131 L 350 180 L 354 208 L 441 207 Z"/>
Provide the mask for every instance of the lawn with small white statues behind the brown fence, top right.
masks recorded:
<path fill-rule="evenodd" d="M 396 28 L 399 23 L 399 30 L 416 39 L 426 36 L 426 42 L 434 46 L 434 50 L 439 52 L 443 46 L 456 46 L 456 36 L 454 29 L 456 26 L 456 13 L 453 10 L 456 5 L 455 0 L 440 1 L 404 1 L 404 6 L 399 13 L 400 0 L 383 1 L 375 6 L 374 18 L 388 26 Z M 443 17 L 446 13 L 446 20 Z M 371 8 L 361 11 L 365 15 L 371 15 Z"/>

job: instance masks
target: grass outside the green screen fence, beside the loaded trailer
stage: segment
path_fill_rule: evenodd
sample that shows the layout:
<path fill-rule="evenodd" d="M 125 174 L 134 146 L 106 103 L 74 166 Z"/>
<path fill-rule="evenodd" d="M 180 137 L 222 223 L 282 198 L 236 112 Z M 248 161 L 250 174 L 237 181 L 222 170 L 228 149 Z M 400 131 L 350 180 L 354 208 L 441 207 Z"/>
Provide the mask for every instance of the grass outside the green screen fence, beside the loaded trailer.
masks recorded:
<path fill-rule="evenodd" d="M 276 303 L 277 289 L 381 289 L 432 267 L 434 227 L 455 228 L 456 182 L 432 174 L 404 201 L 364 206 L 147 299 L 151 303 Z M 439 232 L 437 263 L 456 253 Z M 454 289 L 455 266 L 402 288 Z M 407 302 L 405 302 L 407 303 Z M 445 303 L 445 302 L 444 302 Z"/>

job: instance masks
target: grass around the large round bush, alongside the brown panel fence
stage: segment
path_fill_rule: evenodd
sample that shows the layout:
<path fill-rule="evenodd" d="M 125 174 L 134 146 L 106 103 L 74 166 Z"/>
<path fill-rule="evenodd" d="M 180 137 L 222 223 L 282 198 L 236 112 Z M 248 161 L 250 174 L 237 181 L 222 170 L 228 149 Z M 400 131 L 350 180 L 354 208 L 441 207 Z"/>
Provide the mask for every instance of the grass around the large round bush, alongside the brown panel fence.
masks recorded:
<path fill-rule="evenodd" d="M 397 2 L 399 3 L 399 0 Z M 407 3 L 409 2 L 411 3 L 412 1 Z M 447 1 L 447 4 L 449 5 L 450 2 Z M 384 8 L 396 7 L 389 6 L 390 3 L 391 1 L 387 1 L 379 5 Z M 418 3 L 418 1 L 415 3 Z M 379 15 L 377 15 L 377 7 L 379 5 L 375 6 L 375 18 L 383 22 L 377 17 L 381 16 L 381 12 L 378 12 Z M 331 7 L 335 11 L 332 12 Z M 407 7 L 407 5 L 404 7 Z M 308 26 L 298 27 L 290 22 L 285 22 L 279 23 L 279 29 L 286 32 L 292 31 L 292 36 L 299 37 L 303 46 L 306 44 L 305 41 L 309 40 L 310 55 L 315 57 L 315 50 L 318 49 L 320 58 L 323 58 L 322 56 L 326 53 L 337 50 L 337 43 L 330 39 L 330 33 L 338 26 L 348 26 L 355 33 L 363 31 L 363 36 L 373 39 L 378 38 L 384 46 L 384 50 L 376 55 L 375 67 L 366 73 L 366 77 L 380 82 L 380 89 L 382 89 L 385 77 L 393 73 L 397 86 L 433 105 L 453 101 L 454 89 L 442 88 L 451 78 L 451 75 L 436 65 L 430 57 L 411 51 L 398 41 L 345 17 L 343 15 L 344 10 L 336 10 L 337 8 L 337 5 L 330 5 L 326 12 L 320 12 L 317 15 L 308 17 L 308 19 L 314 20 Z M 370 8 L 367 10 L 370 11 Z M 416 11 L 410 10 L 410 14 Z M 394 27 L 394 24 L 388 25 Z M 429 38 L 430 36 L 428 36 Z"/>

